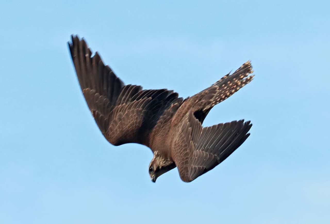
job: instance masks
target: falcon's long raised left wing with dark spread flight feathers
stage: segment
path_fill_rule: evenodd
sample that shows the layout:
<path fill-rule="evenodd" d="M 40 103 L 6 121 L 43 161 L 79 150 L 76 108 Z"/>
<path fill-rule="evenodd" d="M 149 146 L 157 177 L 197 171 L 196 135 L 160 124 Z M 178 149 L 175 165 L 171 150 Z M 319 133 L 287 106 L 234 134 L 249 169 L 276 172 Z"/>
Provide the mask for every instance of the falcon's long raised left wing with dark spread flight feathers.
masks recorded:
<path fill-rule="evenodd" d="M 142 90 L 124 85 L 98 52 L 92 56 L 84 39 L 72 36 L 71 57 L 87 105 L 105 138 L 113 145 L 149 146 L 150 132 L 163 112 L 178 99 L 167 89 Z"/>

